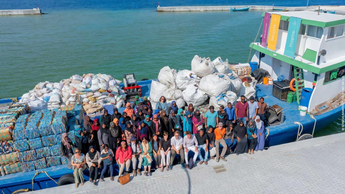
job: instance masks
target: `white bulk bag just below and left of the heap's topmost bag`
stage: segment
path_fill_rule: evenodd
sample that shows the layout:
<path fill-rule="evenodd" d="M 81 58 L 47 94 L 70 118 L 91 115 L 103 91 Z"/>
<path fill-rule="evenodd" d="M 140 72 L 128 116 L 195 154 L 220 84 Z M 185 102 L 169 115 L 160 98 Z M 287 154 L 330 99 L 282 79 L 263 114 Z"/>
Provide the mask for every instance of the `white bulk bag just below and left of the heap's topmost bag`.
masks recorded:
<path fill-rule="evenodd" d="M 176 86 L 180 90 L 185 90 L 188 85 L 200 83 L 200 78 L 191 70 L 180 70 L 176 75 Z"/>

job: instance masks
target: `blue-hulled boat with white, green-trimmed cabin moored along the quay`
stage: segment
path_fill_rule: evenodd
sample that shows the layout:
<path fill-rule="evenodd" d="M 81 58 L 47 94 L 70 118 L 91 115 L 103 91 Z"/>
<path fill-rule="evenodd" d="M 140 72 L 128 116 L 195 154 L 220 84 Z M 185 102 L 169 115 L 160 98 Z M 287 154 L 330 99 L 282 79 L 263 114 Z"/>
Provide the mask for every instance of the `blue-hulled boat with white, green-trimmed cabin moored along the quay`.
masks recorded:
<path fill-rule="evenodd" d="M 316 12 L 309 11 L 267 12 L 262 16 L 265 19 L 263 36 L 260 42 L 252 42 L 249 45 L 251 49 L 256 50 L 251 61 L 256 62 L 258 68 L 269 72 L 273 85 L 256 84 L 256 99 L 264 97 L 270 107 L 277 107 L 273 111 L 284 113 L 280 114 L 281 117 L 277 123 L 269 126 L 266 124 L 265 147 L 268 148 L 312 138 L 317 130 L 341 116 L 341 105 L 334 103 L 337 101 L 340 103 L 339 87 L 341 87 L 342 78 L 334 72 L 340 72 L 345 68 L 345 49 L 342 47 L 345 36 L 335 32 L 339 30 L 337 28 L 345 27 L 345 21 L 342 16 L 336 14 L 320 13 L 318 15 Z M 291 21 L 299 27 L 300 30 L 295 30 L 299 32 L 298 35 L 288 32 L 289 28 L 293 28 L 289 23 Z M 279 23 L 282 24 L 279 29 L 269 30 L 270 24 L 278 27 Z M 267 42 L 268 36 L 273 40 Z M 289 41 L 286 37 L 290 38 Z M 291 39 L 291 37 L 294 38 Z M 292 54 L 285 52 L 290 43 L 295 46 Z M 296 88 L 298 91 L 296 101 L 287 103 L 280 98 L 282 95 L 277 97 L 275 84 L 281 77 L 287 78 L 288 81 L 295 79 L 290 83 L 299 86 Z M 150 95 L 151 83 L 152 80 L 137 82 L 141 88 L 141 96 Z M 125 87 L 125 85 L 120 84 L 120 87 Z M 312 89 L 310 98 L 303 96 L 301 90 L 305 88 Z M 12 103 L 20 98 L 0 99 L 0 104 Z M 300 115 L 299 106 L 301 105 L 307 106 L 310 115 Z M 111 107 L 105 106 L 109 114 L 112 114 Z M 119 112 L 121 113 L 124 109 L 124 107 L 120 108 Z M 316 114 L 313 114 L 315 111 Z M 90 117 L 99 118 L 99 116 L 100 114 L 96 114 Z M 118 166 L 114 164 L 114 167 L 115 175 L 117 175 Z M 4 193 L 19 193 L 71 184 L 74 180 L 72 171 L 67 168 L 67 165 L 52 166 L 39 171 L 47 172 L 52 179 L 45 173 L 36 176 L 36 171 L 18 172 L 0 176 L 0 189 Z M 88 171 L 85 170 L 85 180 L 88 180 L 88 175 Z"/>

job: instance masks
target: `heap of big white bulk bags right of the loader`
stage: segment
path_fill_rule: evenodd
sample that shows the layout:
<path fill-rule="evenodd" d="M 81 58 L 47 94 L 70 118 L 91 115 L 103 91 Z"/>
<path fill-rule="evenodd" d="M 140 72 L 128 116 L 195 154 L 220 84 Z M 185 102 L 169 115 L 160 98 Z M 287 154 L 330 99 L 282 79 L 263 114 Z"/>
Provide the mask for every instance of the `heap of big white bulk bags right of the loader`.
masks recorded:
<path fill-rule="evenodd" d="M 185 103 L 197 107 L 210 97 L 209 105 L 218 109 L 220 105 L 234 103 L 240 95 L 248 99 L 255 96 L 255 84 L 255 81 L 252 84 L 242 83 L 229 69 L 227 59 L 223 61 L 217 57 L 211 61 L 196 55 L 191 61 L 191 70 L 176 72 L 168 66 L 162 68 L 158 81 L 152 81 L 150 100 L 154 106 L 161 96 L 165 96 L 168 103 L 175 100 L 179 107 Z"/>

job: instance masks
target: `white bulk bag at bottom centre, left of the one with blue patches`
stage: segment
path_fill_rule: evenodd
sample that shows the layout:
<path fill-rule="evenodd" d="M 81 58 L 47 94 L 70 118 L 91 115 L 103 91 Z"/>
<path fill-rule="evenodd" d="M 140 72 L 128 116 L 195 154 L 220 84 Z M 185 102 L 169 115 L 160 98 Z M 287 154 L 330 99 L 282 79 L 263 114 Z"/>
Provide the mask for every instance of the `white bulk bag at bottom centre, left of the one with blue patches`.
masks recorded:
<path fill-rule="evenodd" d="M 207 94 L 194 85 L 187 86 L 182 95 L 187 104 L 192 103 L 194 106 L 200 106 L 208 98 Z"/>

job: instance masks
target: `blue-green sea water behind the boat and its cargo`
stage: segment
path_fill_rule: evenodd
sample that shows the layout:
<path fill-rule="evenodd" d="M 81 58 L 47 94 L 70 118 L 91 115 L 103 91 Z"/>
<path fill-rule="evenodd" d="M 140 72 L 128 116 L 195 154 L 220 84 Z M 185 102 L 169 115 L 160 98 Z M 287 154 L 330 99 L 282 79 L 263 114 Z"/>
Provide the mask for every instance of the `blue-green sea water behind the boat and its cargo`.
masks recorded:
<path fill-rule="evenodd" d="M 160 6 L 306 3 L 164 0 Z M 102 73 L 122 80 L 134 73 L 137 80 L 153 79 L 164 66 L 190 69 L 194 55 L 245 63 L 255 53 L 249 55 L 249 43 L 263 12 L 157 12 L 158 1 L 153 0 L 2 0 L 0 9 L 32 9 L 37 4 L 48 14 L 0 17 L 0 98 L 21 96 L 39 82 L 58 82 L 74 74 Z M 339 124 L 325 129 L 326 134 L 340 130 Z"/>

